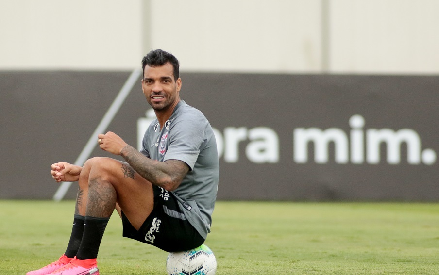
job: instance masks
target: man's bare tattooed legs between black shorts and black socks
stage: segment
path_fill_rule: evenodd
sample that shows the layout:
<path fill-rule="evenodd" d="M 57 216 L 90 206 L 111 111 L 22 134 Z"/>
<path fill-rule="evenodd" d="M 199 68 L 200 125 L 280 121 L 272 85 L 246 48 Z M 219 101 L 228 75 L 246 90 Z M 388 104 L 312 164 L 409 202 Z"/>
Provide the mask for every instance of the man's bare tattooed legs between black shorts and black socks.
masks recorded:
<path fill-rule="evenodd" d="M 104 218 L 116 209 L 119 215 L 123 211 L 136 229 L 140 228 L 154 206 L 151 182 L 126 162 L 95 157 L 85 164 L 83 171 L 86 167 L 88 171 L 80 182 L 78 211 L 84 209 L 84 216 Z"/>

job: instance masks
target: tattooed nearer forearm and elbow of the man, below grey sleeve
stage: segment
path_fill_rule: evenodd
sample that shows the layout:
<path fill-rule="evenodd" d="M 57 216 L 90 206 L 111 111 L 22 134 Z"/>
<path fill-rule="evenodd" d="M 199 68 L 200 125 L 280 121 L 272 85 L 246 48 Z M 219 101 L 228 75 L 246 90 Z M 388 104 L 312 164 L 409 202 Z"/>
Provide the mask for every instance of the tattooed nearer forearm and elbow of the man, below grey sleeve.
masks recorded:
<path fill-rule="evenodd" d="M 120 151 L 120 155 L 140 176 L 168 191 L 175 190 L 189 171 L 189 166 L 185 162 L 178 160 L 154 161 L 129 145 Z"/>

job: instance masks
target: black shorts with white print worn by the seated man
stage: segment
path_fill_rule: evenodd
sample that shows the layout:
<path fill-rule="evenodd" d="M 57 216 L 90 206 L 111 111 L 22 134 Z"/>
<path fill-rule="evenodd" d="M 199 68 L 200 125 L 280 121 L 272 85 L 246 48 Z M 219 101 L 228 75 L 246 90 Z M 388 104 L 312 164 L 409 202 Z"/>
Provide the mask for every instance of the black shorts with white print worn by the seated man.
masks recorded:
<path fill-rule="evenodd" d="M 137 231 L 122 211 L 123 237 L 152 244 L 167 252 L 186 251 L 204 243 L 203 237 L 186 220 L 174 194 L 152 186 L 154 208 Z"/>

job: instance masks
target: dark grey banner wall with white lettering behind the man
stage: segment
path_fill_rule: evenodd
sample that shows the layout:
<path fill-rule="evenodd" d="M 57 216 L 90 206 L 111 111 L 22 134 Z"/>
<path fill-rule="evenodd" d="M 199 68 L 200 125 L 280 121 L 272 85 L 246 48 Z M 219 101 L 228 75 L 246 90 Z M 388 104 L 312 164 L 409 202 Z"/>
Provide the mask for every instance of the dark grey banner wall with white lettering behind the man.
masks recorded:
<path fill-rule="evenodd" d="M 0 198 L 52 198 L 51 163 L 75 162 L 130 73 L 0 72 Z M 216 132 L 219 199 L 439 199 L 438 76 L 181 77 Z M 137 146 L 150 109 L 139 79 L 107 130 Z"/>

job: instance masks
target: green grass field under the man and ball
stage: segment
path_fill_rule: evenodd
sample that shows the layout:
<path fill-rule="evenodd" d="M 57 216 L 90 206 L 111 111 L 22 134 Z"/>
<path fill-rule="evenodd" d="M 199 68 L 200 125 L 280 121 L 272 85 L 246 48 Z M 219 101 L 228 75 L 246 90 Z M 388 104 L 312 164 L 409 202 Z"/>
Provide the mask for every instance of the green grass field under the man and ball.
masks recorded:
<path fill-rule="evenodd" d="M 0 274 L 24 275 L 65 250 L 73 201 L 0 200 Z M 217 275 L 439 274 L 439 204 L 217 202 L 206 243 Z M 166 275 L 167 253 L 121 237 L 114 214 L 102 275 Z"/>

